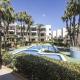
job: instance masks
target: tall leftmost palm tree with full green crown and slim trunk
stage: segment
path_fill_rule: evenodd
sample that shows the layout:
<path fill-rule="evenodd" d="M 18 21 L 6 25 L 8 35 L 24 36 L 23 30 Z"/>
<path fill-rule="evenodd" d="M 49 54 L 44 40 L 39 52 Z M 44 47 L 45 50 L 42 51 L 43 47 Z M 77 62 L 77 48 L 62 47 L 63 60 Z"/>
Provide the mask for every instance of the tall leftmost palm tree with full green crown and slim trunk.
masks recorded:
<path fill-rule="evenodd" d="M 7 13 L 7 14 L 6 14 Z M 6 12 L 4 12 L 4 16 L 3 16 L 3 20 L 4 23 L 6 22 L 7 24 L 5 25 L 5 45 L 7 44 L 7 39 L 9 38 L 8 36 L 8 30 L 9 30 L 9 24 L 11 24 L 12 22 L 14 22 L 14 16 L 13 16 L 13 8 L 12 7 L 8 7 L 6 9 Z"/>

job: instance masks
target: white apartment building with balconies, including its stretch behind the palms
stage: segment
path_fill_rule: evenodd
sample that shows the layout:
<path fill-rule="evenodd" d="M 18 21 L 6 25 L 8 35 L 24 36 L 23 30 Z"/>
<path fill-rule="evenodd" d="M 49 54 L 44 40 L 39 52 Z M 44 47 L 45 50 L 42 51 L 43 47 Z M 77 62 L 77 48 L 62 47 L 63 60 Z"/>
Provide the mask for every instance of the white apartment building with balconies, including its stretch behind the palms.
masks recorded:
<path fill-rule="evenodd" d="M 21 29 L 16 28 L 17 23 L 10 24 L 9 34 L 21 36 Z M 27 32 L 27 25 L 25 25 L 25 30 L 23 31 L 24 38 L 26 41 L 49 41 L 51 39 L 51 25 L 44 25 L 39 27 L 37 24 L 34 24 L 30 27 L 30 30 Z M 19 25 L 20 27 L 20 25 Z"/>

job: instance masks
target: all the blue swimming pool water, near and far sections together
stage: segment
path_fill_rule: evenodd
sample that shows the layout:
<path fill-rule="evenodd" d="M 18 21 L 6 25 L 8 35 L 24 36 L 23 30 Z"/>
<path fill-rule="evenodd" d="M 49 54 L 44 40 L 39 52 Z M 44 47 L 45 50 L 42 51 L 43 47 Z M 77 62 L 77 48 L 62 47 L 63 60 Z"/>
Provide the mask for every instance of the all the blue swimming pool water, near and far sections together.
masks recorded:
<path fill-rule="evenodd" d="M 46 56 L 52 59 L 56 59 L 56 60 L 62 60 L 60 55 L 57 54 L 40 54 L 41 52 L 39 52 L 39 50 L 41 49 L 47 49 L 49 51 L 58 51 L 57 47 L 52 47 L 51 45 L 38 45 L 38 46 L 32 46 L 30 48 L 28 48 L 27 50 L 23 50 L 20 53 L 26 53 L 26 54 L 32 54 L 32 55 L 37 55 L 37 56 Z"/>

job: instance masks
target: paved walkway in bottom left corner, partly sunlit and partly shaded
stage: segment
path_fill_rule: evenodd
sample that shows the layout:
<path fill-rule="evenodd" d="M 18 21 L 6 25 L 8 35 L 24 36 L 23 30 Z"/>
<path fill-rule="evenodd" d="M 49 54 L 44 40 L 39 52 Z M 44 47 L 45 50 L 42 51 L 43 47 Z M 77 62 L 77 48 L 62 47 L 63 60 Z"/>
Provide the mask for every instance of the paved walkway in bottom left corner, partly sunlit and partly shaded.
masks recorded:
<path fill-rule="evenodd" d="M 12 69 L 3 66 L 2 69 L 0 70 L 0 80 L 27 80 L 27 79 L 24 79 L 20 75 L 12 73 Z"/>

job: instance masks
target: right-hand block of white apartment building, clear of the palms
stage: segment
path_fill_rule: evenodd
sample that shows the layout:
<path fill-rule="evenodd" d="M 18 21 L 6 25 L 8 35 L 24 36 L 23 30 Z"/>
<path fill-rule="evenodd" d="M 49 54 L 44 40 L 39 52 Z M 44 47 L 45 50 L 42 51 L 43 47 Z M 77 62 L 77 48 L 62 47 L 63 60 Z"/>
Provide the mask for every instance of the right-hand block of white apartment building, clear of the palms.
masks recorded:
<path fill-rule="evenodd" d="M 51 39 L 51 25 L 32 25 L 29 34 L 28 39 L 30 37 L 30 41 L 49 41 Z"/>

